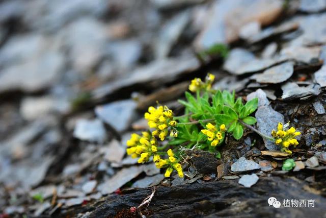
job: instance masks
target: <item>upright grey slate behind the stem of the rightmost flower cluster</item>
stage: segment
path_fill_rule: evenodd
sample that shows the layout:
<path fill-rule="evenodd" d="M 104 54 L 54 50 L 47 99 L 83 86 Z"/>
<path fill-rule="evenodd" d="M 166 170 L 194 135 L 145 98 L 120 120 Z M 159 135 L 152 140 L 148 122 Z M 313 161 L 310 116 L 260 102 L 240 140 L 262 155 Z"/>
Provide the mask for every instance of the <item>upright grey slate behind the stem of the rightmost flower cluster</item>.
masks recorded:
<path fill-rule="evenodd" d="M 278 123 L 284 124 L 284 116 L 270 106 L 259 107 L 255 113 L 255 117 L 257 119 L 258 130 L 265 135 L 270 135 L 273 129 L 276 130 Z M 263 140 L 268 150 L 278 150 L 278 146 L 273 141 L 265 138 Z"/>

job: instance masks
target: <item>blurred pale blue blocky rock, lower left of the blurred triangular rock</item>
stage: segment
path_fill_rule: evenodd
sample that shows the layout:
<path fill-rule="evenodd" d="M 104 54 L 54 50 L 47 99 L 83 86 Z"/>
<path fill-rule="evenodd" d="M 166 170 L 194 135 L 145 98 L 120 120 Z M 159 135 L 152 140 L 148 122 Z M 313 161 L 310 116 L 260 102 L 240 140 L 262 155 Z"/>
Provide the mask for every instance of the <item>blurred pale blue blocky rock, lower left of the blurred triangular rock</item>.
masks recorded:
<path fill-rule="evenodd" d="M 80 140 L 103 143 L 106 139 L 104 125 L 99 119 L 78 119 L 73 136 Z"/>

